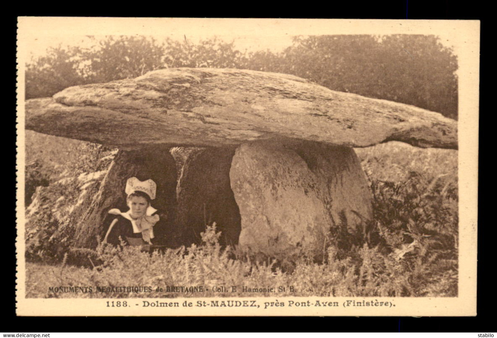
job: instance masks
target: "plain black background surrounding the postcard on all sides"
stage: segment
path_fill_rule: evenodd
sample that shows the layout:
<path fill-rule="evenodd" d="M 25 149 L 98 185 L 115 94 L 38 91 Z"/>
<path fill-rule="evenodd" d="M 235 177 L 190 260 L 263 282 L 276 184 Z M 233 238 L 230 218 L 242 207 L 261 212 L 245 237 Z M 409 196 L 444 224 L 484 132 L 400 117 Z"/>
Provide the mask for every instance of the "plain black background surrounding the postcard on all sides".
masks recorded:
<path fill-rule="evenodd" d="M 489 1 L 490 2 L 490 1 Z M 93 2 L 66 2 L 61 4 L 22 3 L 25 8 L 17 8 L 11 15 L 3 15 L 3 23 L 11 32 L 10 41 L 3 46 L 3 56 L 11 59 L 4 62 L 4 70 L 10 70 L 12 82 L 3 77 L 3 84 L 15 84 L 15 27 L 17 16 L 166 16 L 166 17 L 281 17 L 281 18 L 369 18 L 369 19 L 478 19 L 481 21 L 481 97 L 480 97 L 480 153 L 493 158 L 494 151 L 489 149 L 492 141 L 489 135 L 493 124 L 489 117 L 494 114 L 485 104 L 487 91 L 485 84 L 490 76 L 486 65 L 487 26 L 493 21 L 493 11 L 483 6 L 483 1 L 451 1 L 451 0 L 399 0 L 399 1 L 327 1 L 327 2 L 114 2 L 104 6 Z M 49 6 L 57 10 L 50 10 Z M 140 8 L 137 8 L 140 7 Z M 7 20 L 8 19 L 8 20 Z M 6 38 L 7 34 L 3 34 Z M 494 39 L 493 39 L 494 40 Z M 6 52 L 6 53 L 5 53 Z M 8 65 L 8 66 L 7 66 Z M 4 72 L 5 74 L 5 72 Z M 15 87 L 6 86 L 4 95 L 13 98 L 10 107 L 4 107 L 10 129 L 3 129 L 4 153 L 12 159 L 12 164 L 3 163 L 2 178 L 11 189 L 2 194 L 2 211 L 6 218 L 2 219 L 2 289 L 0 294 L 1 310 L 0 332 L 3 333 L 50 333 L 50 332 L 223 332 L 223 331 L 256 331 L 256 332 L 496 332 L 496 290 L 493 270 L 495 260 L 496 226 L 495 198 L 490 189 L 495 186 L 495 170 L 493 163 L 486 164 L 480 156 L 480 180 L 488 182 L 479 187 L 479 233 L 478 233 L 478 308 L 476 317 L 295 317 L 295 318 L 114 318 L 114 317 L 16 317 L 15 316 Z M 5 102 L 5 100 L 4 100 Z M 487 102 L 488 103 L 488 102 Z M 7 125 L 7 121 L 5 121 Z M 10 134 L 11 133 L 11 134 Z M 10 140 L 10 142 L 8 141 Z M 486 143 L 488 142 L 488 143 Z M 490 143 L 490 144 L 489 144 Z M 9 145 L 9 146 L 8 146 Z M 5 162 L 5 161 L 4 161 Z M 490 178 L 489 171 L 494 174 Z M 487 212 L 485 212 L 487 211 Z M 490 211 L 490 212 L 488 212 Z M 490 217 L 489 217 L 490 216 Z M 327 335 L 329 337 L 330 335 Z"/>

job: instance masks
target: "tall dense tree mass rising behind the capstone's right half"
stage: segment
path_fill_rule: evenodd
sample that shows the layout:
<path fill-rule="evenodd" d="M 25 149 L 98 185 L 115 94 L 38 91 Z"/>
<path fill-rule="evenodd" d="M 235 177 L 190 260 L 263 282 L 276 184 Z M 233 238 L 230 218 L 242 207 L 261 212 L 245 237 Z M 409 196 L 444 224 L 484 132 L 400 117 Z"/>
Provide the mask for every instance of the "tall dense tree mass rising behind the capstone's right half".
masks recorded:
<path fill-rule="evenodd" d="M 248 68 L 457 118 L 457 58 L 432 35 L 299 36 L 282 53 L 250 54 Z"/>

